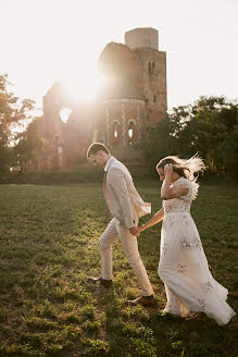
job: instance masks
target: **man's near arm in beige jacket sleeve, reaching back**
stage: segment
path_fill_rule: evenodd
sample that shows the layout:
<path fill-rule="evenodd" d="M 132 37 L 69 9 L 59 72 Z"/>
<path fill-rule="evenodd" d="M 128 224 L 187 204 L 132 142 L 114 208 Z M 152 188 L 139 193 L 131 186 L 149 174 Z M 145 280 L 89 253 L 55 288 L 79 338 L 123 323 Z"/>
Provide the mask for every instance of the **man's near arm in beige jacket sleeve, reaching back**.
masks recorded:
<path fill-rule="evenodd" d="M 125 174 L 122 170 L 113 168 L 110 170 L 110 185 L 113 187 L 123 211 L 126 227 L 131 234 L 136 233 L 136 220 L 133 206 L 129 198 L 129 193 L 126 185 Z M 135 230 L 133 230 L 135 227 Z M 135 232 L 134 232 L 135 231 Z M 134 233 L 133 233 L 134 232 Z"/>

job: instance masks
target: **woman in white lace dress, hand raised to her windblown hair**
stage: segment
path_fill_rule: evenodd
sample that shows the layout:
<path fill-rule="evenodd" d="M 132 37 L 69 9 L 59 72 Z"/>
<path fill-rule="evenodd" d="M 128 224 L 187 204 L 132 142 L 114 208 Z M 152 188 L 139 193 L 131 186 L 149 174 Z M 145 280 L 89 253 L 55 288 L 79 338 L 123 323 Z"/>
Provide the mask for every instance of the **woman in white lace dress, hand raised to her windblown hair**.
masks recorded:
<path fill-rule="evenodd" d="M 204 170 L 198 156 L 189 160 L 171 156 L 162 159 L 156 171 L 163 206 L 140 233 L 163 220 L 159 275 L 164 282 L 170 312 L 187 320 L 203 311 L 220 325 L 228 323 L 236 313 L 226 303 L 228 291 L 214 280 L 202 247 L 197 226 L 190 216 L 191 201 L 197 197 L 199 184 L 195 173 Z"/>

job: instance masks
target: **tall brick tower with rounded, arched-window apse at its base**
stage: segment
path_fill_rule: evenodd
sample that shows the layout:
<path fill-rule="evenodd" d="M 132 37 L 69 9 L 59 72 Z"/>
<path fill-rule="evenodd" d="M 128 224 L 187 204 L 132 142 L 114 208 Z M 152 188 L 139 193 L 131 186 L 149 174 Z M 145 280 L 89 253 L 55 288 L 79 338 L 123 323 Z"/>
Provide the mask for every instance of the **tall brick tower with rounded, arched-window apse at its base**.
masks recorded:
<path fill-rule="evenodd" d="M 108 44 L 98 64 L 108 78 L 99 139 L 110 147 L 130 146 L 147 125 L 166 116 L 166 53 L 159 51 L 158 30 L 127 32 L 125 45 Z"/>

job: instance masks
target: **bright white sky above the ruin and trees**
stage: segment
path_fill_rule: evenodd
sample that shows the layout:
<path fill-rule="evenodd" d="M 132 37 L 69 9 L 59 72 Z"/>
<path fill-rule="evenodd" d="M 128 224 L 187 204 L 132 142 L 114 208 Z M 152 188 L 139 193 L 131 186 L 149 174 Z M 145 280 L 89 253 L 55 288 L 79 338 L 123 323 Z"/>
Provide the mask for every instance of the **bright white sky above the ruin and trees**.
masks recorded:
<path fill-rule="evenodd" d="M 238 0 L 0 0 L 0 74 L 37 108 L 55 81 L 90 97 L 107 44 L 159 30 L 168 109 L 200 96 L 238 98 Z"/>

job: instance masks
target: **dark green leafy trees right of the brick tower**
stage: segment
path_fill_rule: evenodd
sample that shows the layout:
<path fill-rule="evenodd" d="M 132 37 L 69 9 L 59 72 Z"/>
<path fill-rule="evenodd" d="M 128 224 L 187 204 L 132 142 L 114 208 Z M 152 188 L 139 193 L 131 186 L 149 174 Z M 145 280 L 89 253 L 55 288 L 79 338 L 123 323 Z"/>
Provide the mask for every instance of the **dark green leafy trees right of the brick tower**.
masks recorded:
<path fill-rule="evenodd" d="M 164 121 L 149 128 L 140 148 L 149 164 L 168 155 L 191 157 L 199 152 L 212 171 L 231 173 L 237 135 L 237 102 L 200 97 L 193 106 L 174 108 Z"/>

